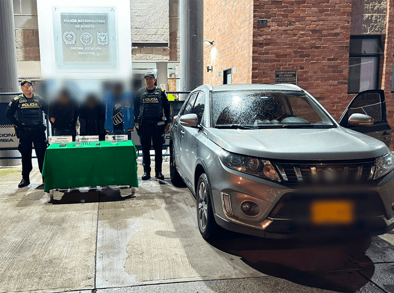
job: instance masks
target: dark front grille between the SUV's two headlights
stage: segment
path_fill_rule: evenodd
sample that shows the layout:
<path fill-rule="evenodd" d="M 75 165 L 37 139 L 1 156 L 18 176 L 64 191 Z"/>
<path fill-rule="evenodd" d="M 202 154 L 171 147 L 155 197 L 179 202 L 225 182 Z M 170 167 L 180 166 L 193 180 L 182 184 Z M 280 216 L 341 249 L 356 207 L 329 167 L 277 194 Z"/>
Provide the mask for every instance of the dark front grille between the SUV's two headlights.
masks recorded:
<path fill-rule="evenodd" d="M 274 163 L 283 182 L 362 182 L 373 179 L 375 161 Z"/>

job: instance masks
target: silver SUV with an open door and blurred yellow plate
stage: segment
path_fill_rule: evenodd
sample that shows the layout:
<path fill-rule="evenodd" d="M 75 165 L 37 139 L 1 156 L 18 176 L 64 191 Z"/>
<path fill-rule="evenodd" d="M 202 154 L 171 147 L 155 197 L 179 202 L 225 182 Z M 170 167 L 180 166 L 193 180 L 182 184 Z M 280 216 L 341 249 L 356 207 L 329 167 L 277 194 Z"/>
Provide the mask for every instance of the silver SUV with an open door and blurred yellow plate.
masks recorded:
<path fill-rule="evenodd" d="M 202 85 L 173 118 L 171 180 L 194 194 L 204 238 L 217 225 L 262 237 L 383 234 L 394 228 L 385 114 L 381 90 L 358 94 L 337 123 L 295 85 Z"/>

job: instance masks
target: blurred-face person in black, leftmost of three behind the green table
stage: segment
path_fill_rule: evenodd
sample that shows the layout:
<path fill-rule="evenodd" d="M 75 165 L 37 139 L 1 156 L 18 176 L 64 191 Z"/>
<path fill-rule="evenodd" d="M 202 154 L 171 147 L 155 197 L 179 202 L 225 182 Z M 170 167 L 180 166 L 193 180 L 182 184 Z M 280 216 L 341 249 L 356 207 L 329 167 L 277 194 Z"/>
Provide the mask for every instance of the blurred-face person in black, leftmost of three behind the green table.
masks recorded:
<path fill-rule="evenodd" d="M 50 104 L 48 116 L 55 135 L 71 135 L 75 141 L 78 105 L 73 101 L 67 89 L 63 89 L 59 99 Z"/>

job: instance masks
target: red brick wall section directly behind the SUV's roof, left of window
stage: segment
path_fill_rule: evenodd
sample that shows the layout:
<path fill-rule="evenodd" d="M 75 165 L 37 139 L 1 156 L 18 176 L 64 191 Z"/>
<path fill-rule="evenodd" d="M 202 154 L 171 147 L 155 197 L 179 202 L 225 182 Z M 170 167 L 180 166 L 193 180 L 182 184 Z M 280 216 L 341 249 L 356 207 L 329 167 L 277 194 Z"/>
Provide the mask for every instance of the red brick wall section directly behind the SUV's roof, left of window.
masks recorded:
<path fill-rule="evenodd" d="M 252 82 L 297 70 L 297 84 L 338 119 L 348 105 L 351 12 L 351 0 L 255 0 Z"/>

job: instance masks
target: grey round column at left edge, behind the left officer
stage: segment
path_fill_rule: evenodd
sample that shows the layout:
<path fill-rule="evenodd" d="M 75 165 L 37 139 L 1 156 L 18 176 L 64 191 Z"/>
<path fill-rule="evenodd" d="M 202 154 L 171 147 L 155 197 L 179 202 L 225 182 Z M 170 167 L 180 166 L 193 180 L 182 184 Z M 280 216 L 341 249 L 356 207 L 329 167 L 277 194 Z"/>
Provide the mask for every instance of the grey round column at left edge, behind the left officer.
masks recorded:
<path fill-rule="evenodd" d="M 14 6 L 12 0 L 0 0 L 0 92 L 19 92 L 15 46 Z M 8 103 L 13 96 L 1 95 L 0 102 Z M 4 113 L 0 113 L 4 115 Z M 18 151 L 2 151 L 0 157 L 19 157 Z M 0 160 L 0 166 L 20 165 L 21 160 Z"/>

